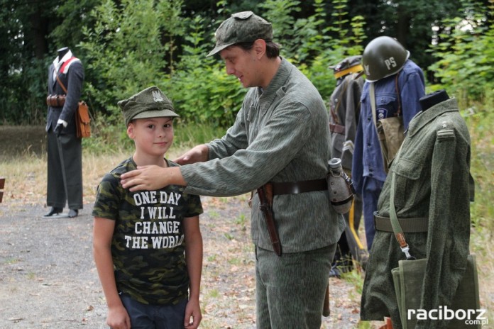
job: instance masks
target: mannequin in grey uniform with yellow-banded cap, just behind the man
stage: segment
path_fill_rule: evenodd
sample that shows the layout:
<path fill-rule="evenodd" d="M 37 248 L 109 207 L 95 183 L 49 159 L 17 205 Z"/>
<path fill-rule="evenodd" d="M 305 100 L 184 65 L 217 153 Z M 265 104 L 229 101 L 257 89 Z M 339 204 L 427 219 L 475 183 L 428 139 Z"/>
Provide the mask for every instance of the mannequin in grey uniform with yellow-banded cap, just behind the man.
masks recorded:
<path fill-rule="evenodd" d="M 360 114 L 360 99 L 364 82 L 361 59 L 361 55 L 346 57 L 337 65 L 330 67 L 334 69 L 336 78 L 336 88 L 329 99 L 331 152 L 333 157 L 341 158 L 341 166 L 348 175 L 351 175 L 353 142 Z M 358 238 L 358 226 L 362 216 L 362 201 L 358 195 L 354 196 L 352 208 L 344 216 L 345 233 L 338 241 L 331 277 L 340 277 L 341 272 L 348 272 L 353 268 L 352 255 L 363 266 L 367 261 L 367 248 L 364 249 Z"/>

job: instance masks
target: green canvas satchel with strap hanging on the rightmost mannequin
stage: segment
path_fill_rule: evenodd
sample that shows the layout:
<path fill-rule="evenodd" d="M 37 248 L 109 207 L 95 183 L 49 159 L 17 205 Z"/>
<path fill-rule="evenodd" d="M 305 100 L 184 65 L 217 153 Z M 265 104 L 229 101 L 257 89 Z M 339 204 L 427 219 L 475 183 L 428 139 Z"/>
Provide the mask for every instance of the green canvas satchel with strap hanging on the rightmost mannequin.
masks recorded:
<path fill-rule="evenodd" d="M 399 157 L 400 152 L 397 154 Z M 390 195 L 390 220 L 393 226 L 393 233 L 400 243 L 400 247 L 407 260 L 400 260 L 398 267 L 391 270 L 395 293 L 400 311 L 400 318 L 403 329 L 415 328 L 417 316 L 419 318 L 431 318 L 426 311 L 419 310 L 420 296 L 422 296 L 422 284 L 424 281 L 425 266 L 427 258 L 415 260 L 410 255 L 410 247 L 405 240 L 405 234 L 397 220 L 395 211 L 395 173 L 391 177 L 391 195 Z M 420 289 L 417 289 L 419 287 Z M 451 304 L 451 308 L 441 308 L 434 312 L 434 316 L 439 318 L 439 312 L 442 316 L 440 319 L 450 320 L 448 328 L 451 329 L 473 329 L 481 328 L 481 323 L 466 322 L 466 320 L 477 319 L 477 310 L 480 308 L 480 299 L 478 294 L 478 275 L 475 255 L 468 255 L 466 262 L 465 274 L 461 279 L 456 294 Z M 410 310 L 410 311 L 409 311 Z M 471 316 L 468 316 L 468 312 Z M 409 314 L 410 313 L 410 314 Z M 481 320 L 478 320 L 481 321 Z"/>

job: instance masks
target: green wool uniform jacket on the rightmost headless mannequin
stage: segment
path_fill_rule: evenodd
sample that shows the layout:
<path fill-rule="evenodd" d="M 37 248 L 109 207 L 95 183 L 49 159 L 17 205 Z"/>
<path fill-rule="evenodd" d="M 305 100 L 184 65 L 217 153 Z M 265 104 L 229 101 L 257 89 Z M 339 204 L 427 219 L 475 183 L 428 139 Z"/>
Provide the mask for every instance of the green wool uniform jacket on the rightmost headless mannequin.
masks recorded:
<path fill-rule="evenodd" d="M 410 254 L 427 257 L 420 308 L 451 306 L 466 267 L 470 241 L 470 135 L 456 99 L 417 113 L 410 122 L 395 172 L 398 218 L 428 218 L 427 233 L 405 233 Z M 378 202 L 380 216 L 389 217 L 391 174 Z M 391 316 L 402 328 L 391 269 L 405 254 L 393 233 L 376 231 L 363 285 L 361 318 Z M 417 287 L 418 288 L 418 287 Z M 416 328 L 446 328 L 446 320 L 419 320 Z"/>

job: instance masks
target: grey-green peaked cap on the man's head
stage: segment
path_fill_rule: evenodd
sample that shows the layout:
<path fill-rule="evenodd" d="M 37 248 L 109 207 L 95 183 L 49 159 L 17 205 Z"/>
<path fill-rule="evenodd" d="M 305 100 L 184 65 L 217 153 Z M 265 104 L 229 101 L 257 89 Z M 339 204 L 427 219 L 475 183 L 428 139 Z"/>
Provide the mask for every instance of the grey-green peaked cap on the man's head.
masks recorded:
<path fill-rule="evenodd" d="M 273 27 L 264 18 L 252 11 L 234 13 L 221 23 L 214 33 L 216 47 L 209 52 L 211 56 L 236 43 L 253 42 L 258 39 L 270 41 L 273 39 Z"/>

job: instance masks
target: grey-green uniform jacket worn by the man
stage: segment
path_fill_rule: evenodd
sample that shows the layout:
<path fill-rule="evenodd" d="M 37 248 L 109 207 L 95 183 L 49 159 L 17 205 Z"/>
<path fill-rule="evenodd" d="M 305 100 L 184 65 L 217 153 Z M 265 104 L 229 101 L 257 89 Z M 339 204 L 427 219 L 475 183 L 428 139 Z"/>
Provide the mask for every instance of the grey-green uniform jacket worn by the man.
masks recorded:
<path fill-rule="evenodd" d="M 185 193 L 233 196 L 267 182 L 321 179 L 331 159 L 328 113 L 317 89 L 282 59 L 265 89 L 248 90 L 234 126 L 208 144 L 209 161 L 180 167 Z M 273 213 L 282 252 L 315 250 L 338 241 L 344 218 L 328 191 L 276 195 Z M 273 250 L 259 199 L 252 200 L 255 245 Z"/>

